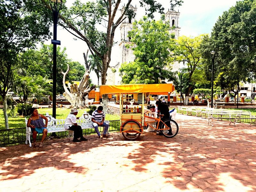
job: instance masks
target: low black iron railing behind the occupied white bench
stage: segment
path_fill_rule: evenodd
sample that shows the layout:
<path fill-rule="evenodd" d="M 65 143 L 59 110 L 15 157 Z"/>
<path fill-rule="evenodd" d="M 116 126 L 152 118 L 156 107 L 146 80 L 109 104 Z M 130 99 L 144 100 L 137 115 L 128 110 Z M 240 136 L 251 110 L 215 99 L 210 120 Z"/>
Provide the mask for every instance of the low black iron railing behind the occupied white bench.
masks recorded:
<path fill-rule="evenodd" d="M 101 132 L 102 127 L 99 128 Z M 120 120 L 109 121 L 108 132 L 114 132 L 120 130 Z M 83 129 L 84 134 L 95 133 L 94 128 Z M 56 132 L 58 138 L 67 137 L 68 131 Z M 41 140 L 42 133 L 38 134 L 36 140 Z M 51 133 L 47 134 L 47 138 L 51 138 Z M 30 138 L 32 141 L 33 139 Z M 26 141 L 26 127 L 16 129 L 3 129 L 0 130 L 0 146 L 8 146 L 14 144 L 25 143 Z"/>

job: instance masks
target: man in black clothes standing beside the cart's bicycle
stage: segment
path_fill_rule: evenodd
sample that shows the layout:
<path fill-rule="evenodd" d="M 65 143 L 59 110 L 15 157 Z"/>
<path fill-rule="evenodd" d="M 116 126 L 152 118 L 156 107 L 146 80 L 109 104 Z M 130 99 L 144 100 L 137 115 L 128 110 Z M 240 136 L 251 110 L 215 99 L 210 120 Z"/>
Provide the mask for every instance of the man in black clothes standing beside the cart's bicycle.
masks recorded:
<path fill-rule="evenodd" d="M 169 108 L 167 105 L 165 105 L 160 100 L 158 100 L 158 101 L 156 101 L 156 106 L 157 106 L 157 113 L 159 114 L 159 116 L 161 117 L 161 120 L 163 122 L 165 119 L 170 119 Z M 163 123 L 160 121 L 159 127 L 161 127 L 162 124 Z M 171 128 L 170 122 L 166 123 L 166 125 L 168 127 L 170 127 L 168 135 L 172 135 L 172 128 Z M 163 135 L 163 133 L 161 132 L 159 135 Z"/>

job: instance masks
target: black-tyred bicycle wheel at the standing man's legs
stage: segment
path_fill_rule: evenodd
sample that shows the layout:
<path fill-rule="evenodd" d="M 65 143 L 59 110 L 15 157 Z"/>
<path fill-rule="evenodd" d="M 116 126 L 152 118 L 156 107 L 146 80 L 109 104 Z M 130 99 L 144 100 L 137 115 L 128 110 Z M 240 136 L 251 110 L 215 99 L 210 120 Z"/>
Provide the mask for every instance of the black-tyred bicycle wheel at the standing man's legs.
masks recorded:
<path fill-rule="evenodd" d="M 178 124 L 172 119 L 166 119 L 162 124 L 161 129 L 163 129 L 161 131 L 163 132 L 164 137 L 168 138 L 174 137 L 179 132 Z"/>

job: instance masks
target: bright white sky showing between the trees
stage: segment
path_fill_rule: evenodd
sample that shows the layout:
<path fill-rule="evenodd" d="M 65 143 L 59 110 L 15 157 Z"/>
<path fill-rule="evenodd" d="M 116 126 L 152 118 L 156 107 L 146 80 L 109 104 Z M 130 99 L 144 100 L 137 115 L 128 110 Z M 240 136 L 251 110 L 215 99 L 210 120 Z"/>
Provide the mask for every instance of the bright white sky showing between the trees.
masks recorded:
<path fill-rule="evenodd" d="M 168 11 L 170 8 L 169 0 L 156 0 L 161 3 L 165 8 L 164 12 Z M 218 20 L 219 16 L 222 15 L 224 11 L 228 11 L 231 6 L 236 4 L 237 0 L 183 0 L 184 3 L 180 7 L 176 7 L 175 10 L 180 12 L 180 35 L 185 36 L 198 36 L 200 34 L 208 33 L 210 34 L 215 22 Z M 71 6 L 74 0 L 68 0 L 66 6 Z M 81 2 L 84 2 L 81 0 Z M 86 1 L 85 1 L 86 2 Z M 124 4 L 127 0 L 123 0 Z M 144 8 L 140 7 L 138 0 L 132 0 L 133 6 L 136 5 L 138 8 L 136 19 L 139 20 L 143 17 L 145 11 Z M 155 14 L 155 20 L 160 19 L 160 14 Z M 53 32 L 53 28 L 52 28 Z M 61 41 L 61 49 L 66 47 L 66 53 L 68 58 L 72 61 L 79 61 L 81 64 L 84 63 L 83 52 L 87 51 L 87 46 L 82 40 L 74 40 L 74 36 L 68 33 L 65 29 L 58 26 L 57 28 L 57 40 Z M 117 41 L 117 46 L 120 42 L 120 30 L 119 27 L 115 32 L 115 41 Z M 45 42 L 46 44 L 51 44 L 51 40 Z M 111 60 L 115 60 L 114 53 L 117 47 L 113 48 Z M 95 73 L 91 73 L 90 77 L 92 83 L 97 84 L 97 77 Z"/>

